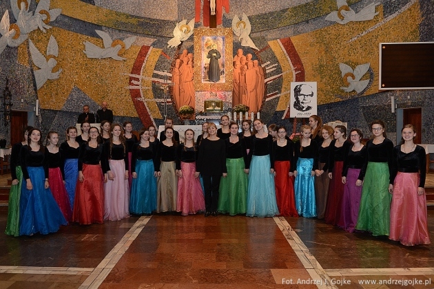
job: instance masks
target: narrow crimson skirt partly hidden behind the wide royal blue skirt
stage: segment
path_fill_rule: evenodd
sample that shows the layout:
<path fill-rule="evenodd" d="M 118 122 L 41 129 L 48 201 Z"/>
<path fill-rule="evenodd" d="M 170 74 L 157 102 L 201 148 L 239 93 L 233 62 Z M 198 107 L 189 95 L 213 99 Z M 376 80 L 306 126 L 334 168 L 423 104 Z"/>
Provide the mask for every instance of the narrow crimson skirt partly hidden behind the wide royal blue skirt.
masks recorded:
<path fill-rule="evenodd" d="M 63 217 L 68 222 L 71 221 L 72 209 L 68 193 L 63 184 L 62 172 L 59 167 L 48 169 L 48 181 L 50 182 L 50 190 L 63 213 Z"/>

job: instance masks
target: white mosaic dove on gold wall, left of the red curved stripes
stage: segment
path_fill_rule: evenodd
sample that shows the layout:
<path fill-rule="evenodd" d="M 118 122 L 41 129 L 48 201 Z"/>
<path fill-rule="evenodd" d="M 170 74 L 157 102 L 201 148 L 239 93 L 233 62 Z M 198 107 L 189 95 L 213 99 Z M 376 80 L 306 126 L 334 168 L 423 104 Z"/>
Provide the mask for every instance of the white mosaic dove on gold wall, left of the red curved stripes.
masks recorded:
<path fill-rule="evenodd" d="M 104 48 L 94 45 L 94 43 L 90 43 L 89 41 L 85 41 L 85 50 L 83 52 L 87 55 L 88 58 L 113 58 L 117 61 L 123 61 L 127 58 L 121 57 L 120 55 L 125 52 L 128 48 L 131 47 L 132 43 L 136 41 L 137 36 L 132 36 L 124 39 L 123 41 L 116 39 L 112 41 L 112 38 L 109 34 L 101 31 L 95 30 L 95 32 L 101 36 L 104 43 Z"/>

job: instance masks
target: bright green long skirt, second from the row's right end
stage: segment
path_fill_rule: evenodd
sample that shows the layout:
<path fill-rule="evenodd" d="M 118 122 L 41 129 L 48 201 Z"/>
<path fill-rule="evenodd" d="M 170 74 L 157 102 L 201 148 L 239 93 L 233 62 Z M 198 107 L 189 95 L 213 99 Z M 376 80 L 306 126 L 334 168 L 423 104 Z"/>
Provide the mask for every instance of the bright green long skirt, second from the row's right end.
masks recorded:
<path fill-rule="evenodd" d="M 373 236 L 389 235 L 391 200 L 387 163 L 368 162 L 355 229 Z"/>

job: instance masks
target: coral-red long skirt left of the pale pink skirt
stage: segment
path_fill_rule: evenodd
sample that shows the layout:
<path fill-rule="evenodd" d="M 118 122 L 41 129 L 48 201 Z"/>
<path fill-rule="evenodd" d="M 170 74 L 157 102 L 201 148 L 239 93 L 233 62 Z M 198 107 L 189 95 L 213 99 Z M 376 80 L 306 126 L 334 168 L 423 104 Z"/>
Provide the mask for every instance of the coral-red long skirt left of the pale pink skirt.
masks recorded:
<path fill-rule="evenodd" d="M 72 220 L 80 224 L 103 224 L 104 179 L 99 164 L 83 164 L 84 180 L 77 180 Z"/>

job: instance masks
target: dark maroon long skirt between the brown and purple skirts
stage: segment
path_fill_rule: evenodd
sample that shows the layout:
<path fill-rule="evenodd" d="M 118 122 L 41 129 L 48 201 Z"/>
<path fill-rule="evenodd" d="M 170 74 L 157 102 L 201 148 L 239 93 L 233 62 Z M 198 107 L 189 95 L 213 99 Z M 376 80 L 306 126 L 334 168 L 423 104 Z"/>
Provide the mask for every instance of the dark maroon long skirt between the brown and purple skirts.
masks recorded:
<path fill-rule="evenodd" d="M 329 195 L 327 196 L 326 213 L 324 220 L 327 224 L 338 226 L 340 213 L 342 211 L 342 196 L 344 195 L 344 184 L 342 184 L 342 168 L 344 162 L 337 161 L 333 166 L 333 178 L 329 183 Z"/>

